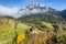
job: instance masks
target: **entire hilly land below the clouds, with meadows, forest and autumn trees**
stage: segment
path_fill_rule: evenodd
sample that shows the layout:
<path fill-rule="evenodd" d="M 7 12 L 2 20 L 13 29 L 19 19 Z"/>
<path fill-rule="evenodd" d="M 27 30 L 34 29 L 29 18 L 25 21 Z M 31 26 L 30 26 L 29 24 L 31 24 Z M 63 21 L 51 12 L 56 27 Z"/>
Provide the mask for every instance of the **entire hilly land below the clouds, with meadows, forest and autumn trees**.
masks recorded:
<path fill-rule="evenodd" d="M 38 13 L 19 19 L 0 18 L 1 44 L 62 44 L 66 40 L 66 23 L 59 16 Z"/>

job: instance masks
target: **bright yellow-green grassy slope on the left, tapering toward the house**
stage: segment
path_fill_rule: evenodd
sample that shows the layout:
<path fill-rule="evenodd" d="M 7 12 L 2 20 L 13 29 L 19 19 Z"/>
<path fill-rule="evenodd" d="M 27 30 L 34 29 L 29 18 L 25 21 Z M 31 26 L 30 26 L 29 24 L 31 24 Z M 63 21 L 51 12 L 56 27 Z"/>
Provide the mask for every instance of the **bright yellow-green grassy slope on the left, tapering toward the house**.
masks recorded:
<path fill-rule="evenodd" d="M 0 19 L 0 42 L 12 38 L 15 35 L 15 32 L 20 33 L 30 28 L 19 21 L 16 29 L 14 29 L 15 22 L 18 21 L 12 19 L 10 19 L 9 22 L 8 19 Z"/>

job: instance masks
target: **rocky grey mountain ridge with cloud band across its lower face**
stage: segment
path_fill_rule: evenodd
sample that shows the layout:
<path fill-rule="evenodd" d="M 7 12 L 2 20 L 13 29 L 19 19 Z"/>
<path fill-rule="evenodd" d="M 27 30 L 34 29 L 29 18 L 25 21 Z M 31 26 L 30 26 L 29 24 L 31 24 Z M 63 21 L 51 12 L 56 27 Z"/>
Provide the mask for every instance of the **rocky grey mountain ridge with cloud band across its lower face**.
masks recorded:
<path fill-rule="evenodd" d="M 19 10 L 19 14 L 33 14 L 33 13 L 58 13 L 59 11 L 44 4 L 29 4 Z"/>

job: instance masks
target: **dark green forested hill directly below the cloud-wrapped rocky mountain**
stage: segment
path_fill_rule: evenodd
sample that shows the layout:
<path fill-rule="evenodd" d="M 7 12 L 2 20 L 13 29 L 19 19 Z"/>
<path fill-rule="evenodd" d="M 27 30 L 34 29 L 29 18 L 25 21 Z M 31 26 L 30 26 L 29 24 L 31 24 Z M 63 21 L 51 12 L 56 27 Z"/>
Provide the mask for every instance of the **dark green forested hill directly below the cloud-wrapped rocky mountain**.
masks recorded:
<path fill-rule="evenodd" d="M 19 20 L 23 21 L 23 23 L 33 23 L 36 25 L 41 25 L 41 22 L 47 22 L 51 24 L 63 24 L 65 23 L 64 19 L 59 15 L 51 14 L 51 13 L 36 13 L 31 15 L 25 15 L 19 18 Z"/>

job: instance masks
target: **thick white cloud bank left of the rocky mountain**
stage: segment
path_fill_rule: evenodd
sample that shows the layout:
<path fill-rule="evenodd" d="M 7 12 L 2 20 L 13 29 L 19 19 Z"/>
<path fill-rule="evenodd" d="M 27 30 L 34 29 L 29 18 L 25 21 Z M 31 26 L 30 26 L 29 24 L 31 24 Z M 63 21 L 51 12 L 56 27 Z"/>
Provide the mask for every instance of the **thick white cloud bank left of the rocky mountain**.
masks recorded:
<path fill-rule="evenodd" d="M 18 11 L 19 11 L 18 8 L 7 8 L 0 4 L 0 15 L 10 15 L 13 18 L 18 18 L 16 15 Z"/>

